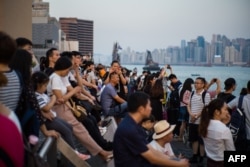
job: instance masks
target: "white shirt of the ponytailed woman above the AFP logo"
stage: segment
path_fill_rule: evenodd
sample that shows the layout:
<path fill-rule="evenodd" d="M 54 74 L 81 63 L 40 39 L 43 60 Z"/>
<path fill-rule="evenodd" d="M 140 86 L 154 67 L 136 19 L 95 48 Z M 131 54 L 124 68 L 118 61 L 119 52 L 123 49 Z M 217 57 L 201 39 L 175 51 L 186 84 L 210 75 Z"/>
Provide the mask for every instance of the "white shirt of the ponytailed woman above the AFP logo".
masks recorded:
<path fill-rule="evenodd" d="M 210 120 L 206 137 L 202 137 L 207 156 L 214 161 L 224 161 L 224 151 L 235 151 L 232 133 L 219 120 Z"/>

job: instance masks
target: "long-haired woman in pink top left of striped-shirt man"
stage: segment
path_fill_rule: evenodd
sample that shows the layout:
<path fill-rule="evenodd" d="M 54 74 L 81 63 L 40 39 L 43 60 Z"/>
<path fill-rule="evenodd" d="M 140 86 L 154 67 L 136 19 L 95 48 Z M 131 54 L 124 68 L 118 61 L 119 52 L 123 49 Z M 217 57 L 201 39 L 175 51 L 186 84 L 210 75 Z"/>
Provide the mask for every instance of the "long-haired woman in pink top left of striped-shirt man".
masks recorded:
<path fill-rule="evenodd" d="M 183 135 L 186 129 L 186 124 L 188 122 L 187 105 L 190 102 L 190 95 L 192 92 L 193 84 L 194 84 L 194 80 L 192 78 L 187 78 L 180 91 L 180 110 L 179 110 L 179 119 L 178 119 L 178 121 L 181 122 L 180 135 L 179 135 L 180 141 L 183 138 Z"/>

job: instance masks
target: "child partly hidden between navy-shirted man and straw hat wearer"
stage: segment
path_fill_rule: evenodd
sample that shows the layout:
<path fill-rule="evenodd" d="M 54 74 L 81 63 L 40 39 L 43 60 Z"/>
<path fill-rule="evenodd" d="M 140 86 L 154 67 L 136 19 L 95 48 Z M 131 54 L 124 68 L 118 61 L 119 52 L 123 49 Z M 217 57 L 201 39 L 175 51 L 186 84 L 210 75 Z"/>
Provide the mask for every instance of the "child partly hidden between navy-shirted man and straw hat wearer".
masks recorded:
<path fill-rule="evenodd" d="M 155 117 L 153 115 L 150 115 L 148 118 L 144 118 L 141 122 L 141 126 L 145 132 L 145 138 L 150 143 L 153 139 L 153 133 L 154 133 L 154 124 L 155 124 Z"/>

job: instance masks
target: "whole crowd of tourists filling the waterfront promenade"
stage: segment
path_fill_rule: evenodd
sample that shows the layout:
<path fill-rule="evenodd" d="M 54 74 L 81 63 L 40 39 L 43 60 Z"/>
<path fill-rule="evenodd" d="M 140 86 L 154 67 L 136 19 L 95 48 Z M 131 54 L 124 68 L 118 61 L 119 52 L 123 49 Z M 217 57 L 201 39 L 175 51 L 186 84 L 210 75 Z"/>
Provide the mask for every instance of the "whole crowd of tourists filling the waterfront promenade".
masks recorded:
<path fill-rule="evenodd" d="M 241 95 L 233 94 L 234 78 L 224 81 L 224 91 L 221 84 L 216 77 L 182 83 L 169 65 L 142 74 L 116 60 L 107 68 L 78 51 L 57 48 L 37 61 L 29 39 L 0 31 L 0 151 L 6 157 L 0 166 L 6 159 L 25 166 L 24 141 L 35 147 L 39 133 L 61 137 L 82 160 L 99 155 L 114 158 L 117 167 L 204 166 L 205 157 L 206 166 L 223 166 L 224 151 L 250 150 L 250 81 Z M 235 143 L 229 129 L 239 99 L 245 146 Z M 81 118 L 72 102 L 84 109 Z M 109 117 L 118 125 L 113 141 L 103 137 Z M 175 155 L 170 142 L 186 142 L 186 135 L 193 156 Z M 88 152 L 77 150 L 74 137 Z"/>

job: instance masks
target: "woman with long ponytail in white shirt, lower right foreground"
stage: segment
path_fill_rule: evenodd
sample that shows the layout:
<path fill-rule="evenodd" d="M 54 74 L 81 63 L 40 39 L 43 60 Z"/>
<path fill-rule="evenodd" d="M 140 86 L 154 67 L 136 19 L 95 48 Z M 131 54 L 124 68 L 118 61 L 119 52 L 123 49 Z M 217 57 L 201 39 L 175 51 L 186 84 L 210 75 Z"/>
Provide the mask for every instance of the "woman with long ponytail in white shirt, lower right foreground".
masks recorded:
<path fill-rule="evenodd" d="M 204 140 L 207 167 L 223 167 L 224 151 L 235 151 L 229 128 L 222 122 L 228 117 L 227 104 L 212 100 L 201 112 L 199 133 Z"/>

